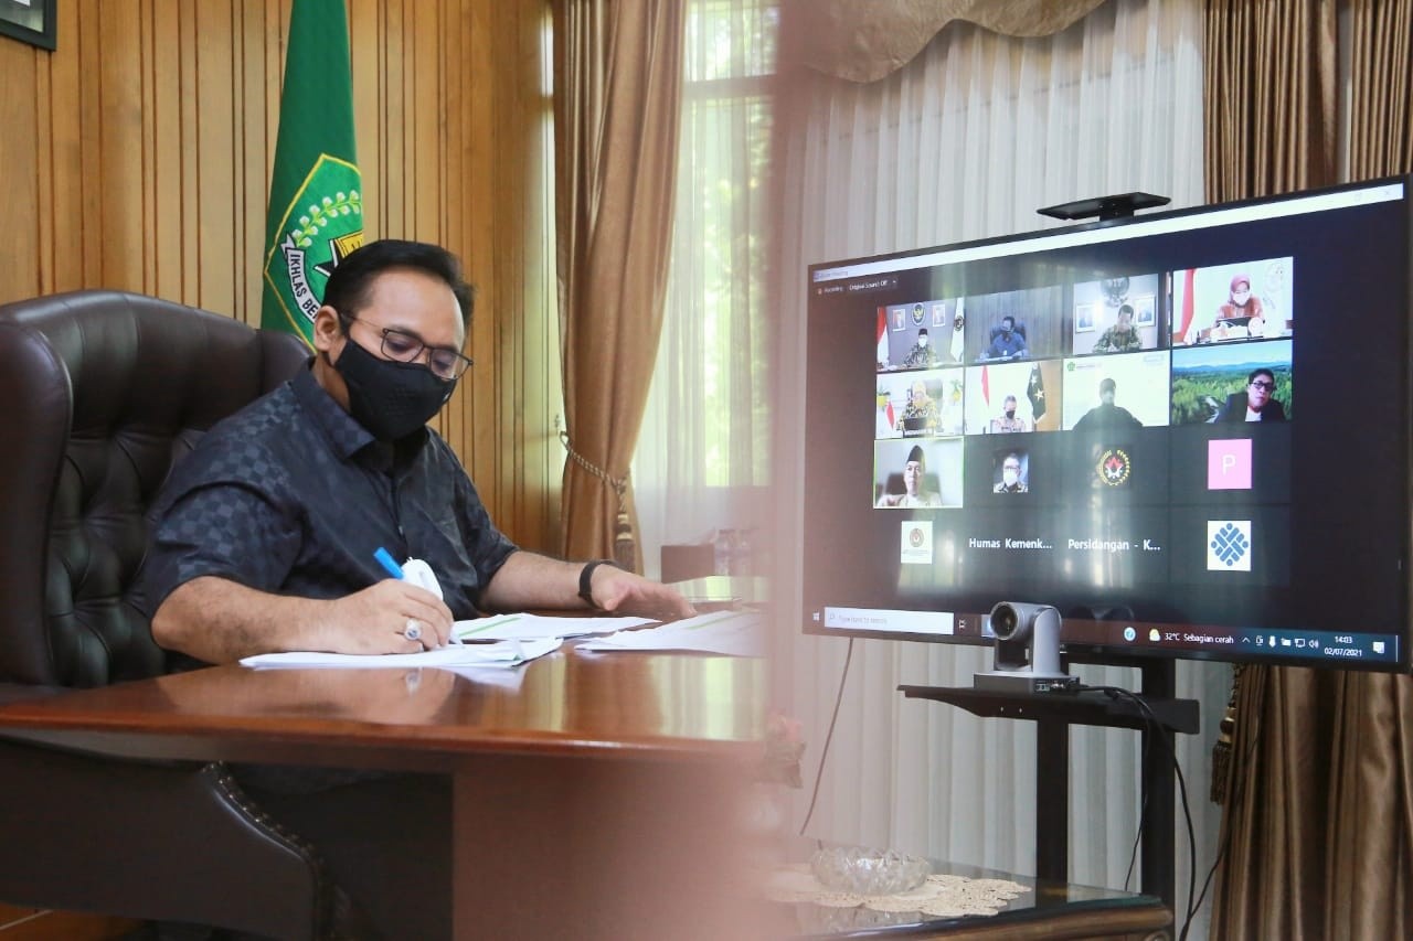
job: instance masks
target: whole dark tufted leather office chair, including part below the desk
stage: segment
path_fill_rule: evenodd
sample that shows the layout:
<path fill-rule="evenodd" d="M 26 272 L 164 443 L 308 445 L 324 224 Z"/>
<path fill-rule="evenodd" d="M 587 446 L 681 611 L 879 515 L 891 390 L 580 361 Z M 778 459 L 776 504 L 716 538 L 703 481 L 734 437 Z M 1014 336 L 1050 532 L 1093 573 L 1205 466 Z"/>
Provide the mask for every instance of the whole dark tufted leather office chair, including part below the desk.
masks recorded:
<path fill-rule="evenodd" d="M 294 374 L 285 333 L 79 291 L 0 307 L 0 701 L 165 667 L 130 598 L 144 514 L 213 422 Z M 0 900 L 274 938 L 343 934 L 311 846 L 220 763 L 0 740 Z"/>

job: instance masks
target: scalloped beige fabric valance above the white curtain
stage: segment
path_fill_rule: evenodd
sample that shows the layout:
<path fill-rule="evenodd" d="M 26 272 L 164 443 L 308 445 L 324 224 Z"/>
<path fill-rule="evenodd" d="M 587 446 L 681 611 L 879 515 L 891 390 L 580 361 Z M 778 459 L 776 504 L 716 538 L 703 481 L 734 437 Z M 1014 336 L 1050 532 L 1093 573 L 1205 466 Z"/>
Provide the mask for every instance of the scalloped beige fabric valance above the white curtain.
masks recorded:
<path fill-rule="evenodd" d="M 787 0 L 807 27 L 798 61 L 851 82 L 875 82 L 907 65 L 952 20 L 1000 35 L 1054 35 L 1104 0 Z"/>

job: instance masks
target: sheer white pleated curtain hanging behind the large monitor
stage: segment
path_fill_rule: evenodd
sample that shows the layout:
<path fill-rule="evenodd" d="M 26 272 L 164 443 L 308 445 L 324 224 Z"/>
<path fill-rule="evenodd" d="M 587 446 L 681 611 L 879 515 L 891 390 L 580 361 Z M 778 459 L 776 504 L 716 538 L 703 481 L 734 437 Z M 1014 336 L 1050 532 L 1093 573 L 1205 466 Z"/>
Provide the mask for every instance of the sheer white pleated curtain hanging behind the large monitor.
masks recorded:
<path fill-rule="evenodd" d="M 870 85 L 811 79 L 779 110 L 788 122 L 777 154 L 786 181 L 780 349 L 803 346 L 810 263 L 1034 230 L 1046 225 L 1037 208 L 1105 194 L 1147 191 L 1171 196 L 1174 208 L 1201 203 L 1201 35 L 1200 0 L 1115 0 L 1048 38 L 952 24 L 917 59 Z M 800 363 L 781 356 L 779 367 L 787 410 L 779 427 L 801 428 Z M 801 470 L 800 442 L 793 444 L 779 452 L 777 479 Z M 781 503 L 779 531 L 797 533 L 798 513 Z M 798 557 L 781 552 L 780 562 Z M 780 574 L 777 598 L 798 612 L 798 598 L 788 595 L 798 579 Z M 848 643 L 803 637 L 798 623 L 781 619 L 776 671 L 777 697 L 805 722 L 810 743 L 796 827 Z M 810 835 L 1034 872 L 1031 723 L 978 719 L 896 691 L 903 682 L 971 685 L 986 656 L 855 641 Z M 1121 668 L 1078 671 L 1089 682 L 1137 685 L 1136 674 Z M 1178 742 L 1198 829 L 1198 882 L 1215 856 L 1219 808 L 1207 801 L 1208 753 L 1228 680 L 1225 665 L 1178 665 L 1178 695 L 1201 699 L 1204 714 L 1205 733 Z M 1072 882 L 1123 886 L 1139 824 L 1139 759 L 1132 732 L 1074 732 Z M 1181 921 L 1188 853 L 1177 817 Z M 1205 931 L 1202 920 L 1194 924 Z"/>

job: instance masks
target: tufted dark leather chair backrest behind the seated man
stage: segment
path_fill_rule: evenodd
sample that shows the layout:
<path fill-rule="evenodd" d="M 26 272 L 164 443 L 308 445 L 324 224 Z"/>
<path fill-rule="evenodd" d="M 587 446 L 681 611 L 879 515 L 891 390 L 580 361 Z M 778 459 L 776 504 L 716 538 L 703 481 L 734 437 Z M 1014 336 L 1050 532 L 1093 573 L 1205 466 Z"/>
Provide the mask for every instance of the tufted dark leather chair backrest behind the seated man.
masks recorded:
<path fill-rule="evenodd" d="M 290 333 L 137 294 L 0 307 L 0 681 L 164 670 L 131 598 L 148 504 L 202 432 L 307 356 Z"/>

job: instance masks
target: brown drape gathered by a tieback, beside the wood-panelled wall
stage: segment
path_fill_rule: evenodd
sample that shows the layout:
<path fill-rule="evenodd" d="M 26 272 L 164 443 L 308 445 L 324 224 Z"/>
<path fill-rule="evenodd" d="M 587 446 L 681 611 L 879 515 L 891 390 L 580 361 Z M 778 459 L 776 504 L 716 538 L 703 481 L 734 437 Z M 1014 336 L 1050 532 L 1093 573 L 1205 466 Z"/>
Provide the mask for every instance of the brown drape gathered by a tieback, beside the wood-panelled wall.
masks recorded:
<path fill-rule="evenodd" d="M 555 0 L 562 552 L 642 571 L 629 462 L 667 290 L 682 82 L 675 0 Z"/>

